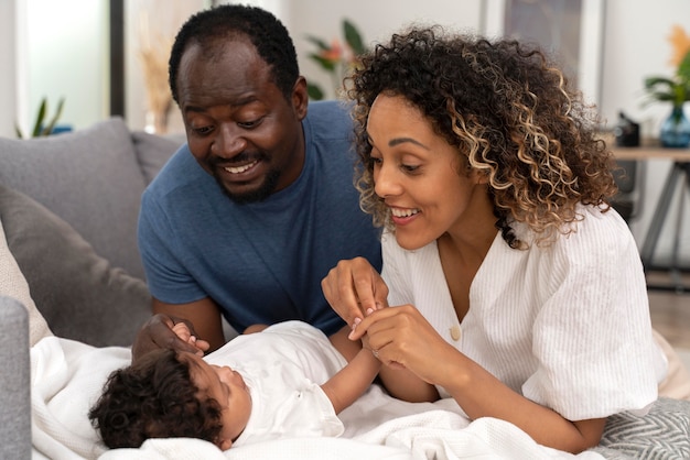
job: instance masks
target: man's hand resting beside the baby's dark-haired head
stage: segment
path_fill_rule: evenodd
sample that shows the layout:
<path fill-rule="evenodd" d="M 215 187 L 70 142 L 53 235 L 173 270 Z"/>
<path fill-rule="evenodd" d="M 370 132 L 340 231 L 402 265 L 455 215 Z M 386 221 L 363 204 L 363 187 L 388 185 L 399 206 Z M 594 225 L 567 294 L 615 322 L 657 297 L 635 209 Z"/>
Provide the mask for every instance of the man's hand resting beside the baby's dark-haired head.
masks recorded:
<path fill-rule="evenodd" d="M 173 328 L 180 322 L 186 326 L 186 332 L 184 333 L 195 338 L 193 342 L 188 341 L 188 339 L 183 340 L 175 333 Z M 208 348 L 208 342 L 196 339 L 196 332 L 192 322 L 183 318 L 158 314 L 149 318 L 139 330 L 132 346 L 132 362 L 155 349 L 180 350 L 202 357 Z"/>

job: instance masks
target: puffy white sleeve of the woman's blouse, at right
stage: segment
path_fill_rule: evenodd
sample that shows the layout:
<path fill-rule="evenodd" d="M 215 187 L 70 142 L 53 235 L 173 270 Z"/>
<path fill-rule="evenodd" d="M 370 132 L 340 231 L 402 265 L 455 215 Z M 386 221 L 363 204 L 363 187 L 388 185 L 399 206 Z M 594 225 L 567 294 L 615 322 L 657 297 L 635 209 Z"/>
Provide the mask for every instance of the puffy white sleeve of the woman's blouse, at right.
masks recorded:
<path fill-rule="evenodd" d="M 522 393 L 571 420 L 644 410 L 657 396 L 657 349 L 637 247 L 617 216 L 590 213 L 579 227 L 543 266 L 550 294 Z"/>

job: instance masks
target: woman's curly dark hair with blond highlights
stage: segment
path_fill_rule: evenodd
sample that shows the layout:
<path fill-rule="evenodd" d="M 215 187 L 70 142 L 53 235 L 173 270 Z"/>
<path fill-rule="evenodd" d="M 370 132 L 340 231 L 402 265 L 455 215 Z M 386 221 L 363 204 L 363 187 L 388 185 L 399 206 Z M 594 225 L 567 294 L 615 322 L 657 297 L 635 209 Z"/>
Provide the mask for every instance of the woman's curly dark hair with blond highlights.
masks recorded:
<path fill-rule="evenodd" d="M 410 29 L 362 56 L 347 83 L 359 157 L 355 182 L 377 226 L 392 228 L 374 191 L 366 133 L 381 92 L 405 97 L 468 167 L 487 176 L 496 226 L 511 248 L 526 247 L 511 222 L 525 222 L 538 243 L 548 243 L 572 231 L 579 202 L 607 209 L 616 193 L 596 112 L 536 46 Z"/>

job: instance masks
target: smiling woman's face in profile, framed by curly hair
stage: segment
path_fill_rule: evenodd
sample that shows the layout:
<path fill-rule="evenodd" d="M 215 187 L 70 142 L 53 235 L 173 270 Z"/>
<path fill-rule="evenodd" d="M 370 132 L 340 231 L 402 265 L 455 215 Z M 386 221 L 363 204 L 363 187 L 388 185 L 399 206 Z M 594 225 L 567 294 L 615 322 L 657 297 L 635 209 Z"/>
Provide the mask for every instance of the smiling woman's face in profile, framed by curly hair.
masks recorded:
<path fill-rule="evenodd" d="M 472 229 L 476 212 L 493 215 L 485 179 L 466 168 L 466 158 L 403 97 L 376 98 L 367 134 L 375 191 L 390 209 L 402 248 Z"/>

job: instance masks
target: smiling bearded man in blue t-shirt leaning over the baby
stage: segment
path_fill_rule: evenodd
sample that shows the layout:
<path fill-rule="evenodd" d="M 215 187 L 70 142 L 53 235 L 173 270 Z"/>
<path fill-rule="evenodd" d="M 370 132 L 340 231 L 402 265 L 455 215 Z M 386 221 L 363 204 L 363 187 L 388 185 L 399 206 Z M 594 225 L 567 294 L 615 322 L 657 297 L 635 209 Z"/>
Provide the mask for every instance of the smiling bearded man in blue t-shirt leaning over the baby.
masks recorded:
<path fill-rule="evenodd" d="M 294 46 L 270 13 L 222 6 L 180 30 L 170 86 L 187 145 L 142 197 L 139 247 L 155 314 L 134 360 L 224 342 L 222 315 L 238 331 L 300 319 L 327 336 L 344 325 L 321 280 L 339 260 L 380 269 L 380 244 L 353 186 L 352 123 L 339 103 L 309 107 Z"/>

